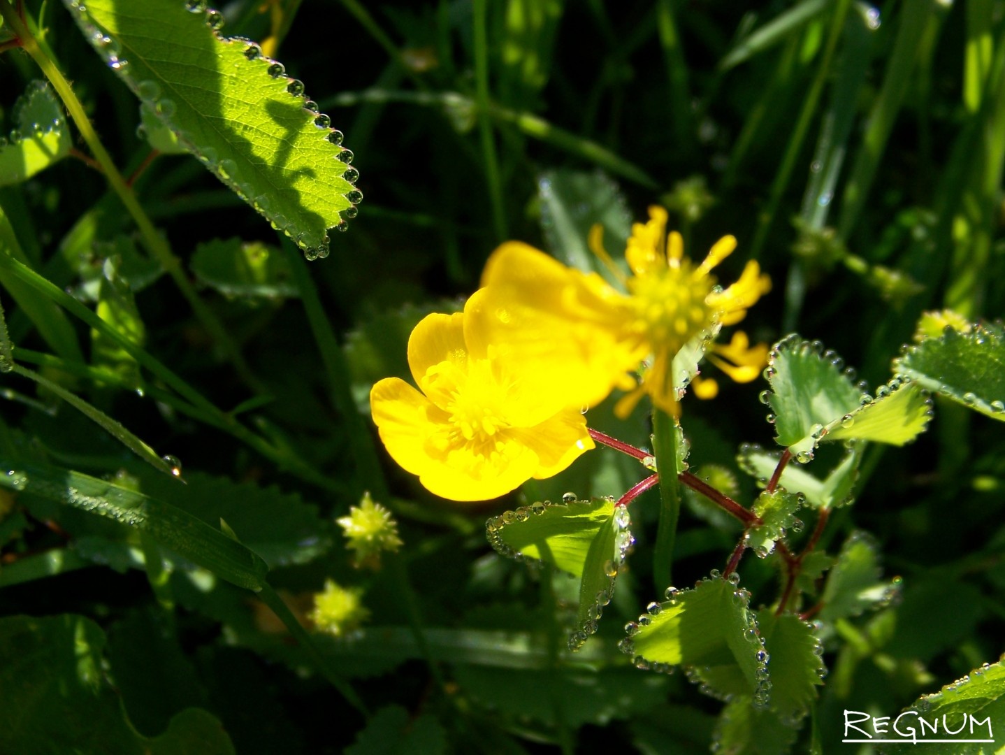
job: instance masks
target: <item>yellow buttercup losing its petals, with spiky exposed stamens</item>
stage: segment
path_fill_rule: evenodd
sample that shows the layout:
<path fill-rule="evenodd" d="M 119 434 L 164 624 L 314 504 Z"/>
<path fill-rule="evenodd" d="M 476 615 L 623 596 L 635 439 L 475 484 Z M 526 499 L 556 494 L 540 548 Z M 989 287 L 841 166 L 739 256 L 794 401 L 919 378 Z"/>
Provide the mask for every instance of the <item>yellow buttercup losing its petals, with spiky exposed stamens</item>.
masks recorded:
<path fill-rule="evenodd" d="M 683 378 L 673 374 L 674 356 L 684 347 L 700 351 L 722 326 L 743 320 L 771 281 L 750 261 L 735 284 L 720 288 L 711 271 L 733 252 L 736 239 L 724 236 L 695 264 L 683 255 L 680 234 L 666 233 L 666 219 L 664 209 L 650 207 L 649 221 L 632 226 L 625 250 L 630 276 L 603 249 L 599 226 L 591 232 L 591 248 L 625 293 L 527 244 L 499 246 L 485 265 L 486 294 L 478 303 L 490 341 L 526 367 L 562 375 L 560 390 L 574 405 L 592 406 L 619 387 L 629 390 L 615 408 L 620 416 L 646 393 L 659 408 L 675 411 Z M 716 362 L 734 377 L 754 364 L 743 354 L 752 350 L 740 346 L 719 347 L 725 360 Z M 636 385 L 629 373 L 640 363 Z"/>

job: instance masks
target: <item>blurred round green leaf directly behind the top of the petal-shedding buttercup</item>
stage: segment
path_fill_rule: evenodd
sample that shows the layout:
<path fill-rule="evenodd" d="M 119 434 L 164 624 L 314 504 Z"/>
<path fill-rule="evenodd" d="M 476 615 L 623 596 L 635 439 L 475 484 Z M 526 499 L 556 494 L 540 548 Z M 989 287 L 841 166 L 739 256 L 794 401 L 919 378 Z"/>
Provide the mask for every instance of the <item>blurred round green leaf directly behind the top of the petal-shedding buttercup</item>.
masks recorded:
<path fill-rule="evenodd" d="M 616 284 L 618 275 L 589 248 L 590 229 L 599 223 L 611 261 L 622 276 L 628 274 L 624 246 L 631 233 L 631 213 L 616 183 L 600 171 L 547 171 L 538 178 L 538 198 L 552 254 L 571 267 L 592 270 Z"/>

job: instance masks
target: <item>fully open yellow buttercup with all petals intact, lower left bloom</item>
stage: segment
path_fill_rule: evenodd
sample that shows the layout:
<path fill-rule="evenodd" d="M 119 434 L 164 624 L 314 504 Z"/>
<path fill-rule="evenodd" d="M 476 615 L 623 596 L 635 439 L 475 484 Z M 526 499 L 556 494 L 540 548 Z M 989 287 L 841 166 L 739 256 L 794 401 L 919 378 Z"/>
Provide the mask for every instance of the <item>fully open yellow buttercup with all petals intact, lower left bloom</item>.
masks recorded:
<path fill-rule="evenodd" d="M 507 358 L 485 331 L 484 292 L 463 314 L 429 315 L 408 340 L 408 365 L 421 393 L 381 380 L 370 406 L 392 458 L 430 492 L 484 501 L 530 478 L 549 478 L 593 447 L 586 420 L 545 389 L 555 379 Z"/>

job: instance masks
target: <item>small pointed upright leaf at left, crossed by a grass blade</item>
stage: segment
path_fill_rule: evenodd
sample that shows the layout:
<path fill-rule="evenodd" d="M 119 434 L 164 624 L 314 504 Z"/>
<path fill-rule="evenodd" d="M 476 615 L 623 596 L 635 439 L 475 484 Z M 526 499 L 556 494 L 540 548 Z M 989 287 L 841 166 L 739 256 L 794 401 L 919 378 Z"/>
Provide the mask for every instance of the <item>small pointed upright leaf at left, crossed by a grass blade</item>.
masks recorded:
<path fill-rule="evenodd" d="M 147 329 L 140 319 L 140 311 L 130 288 L 119 269 L 122 260 L 111 256 L 103 265 L 102 282 L 97 294 L 97 317 L 137 346 L 146 341 Z M 105 367 L 118 373 L 134 388 L 143 386 L 139 363 L 119 344 L 102 331 L 90 331 L 91 361 L 95 367 Z M 167 469 L 171 471 L 171 469 Z"/>

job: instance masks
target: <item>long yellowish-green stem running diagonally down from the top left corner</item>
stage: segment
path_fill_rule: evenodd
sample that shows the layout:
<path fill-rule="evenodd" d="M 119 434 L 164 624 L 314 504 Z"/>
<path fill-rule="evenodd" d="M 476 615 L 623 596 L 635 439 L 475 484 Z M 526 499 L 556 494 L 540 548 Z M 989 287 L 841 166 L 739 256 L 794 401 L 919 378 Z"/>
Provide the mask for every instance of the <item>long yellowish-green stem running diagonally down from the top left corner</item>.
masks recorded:
<path fill-rule="evenodd" d="M 55 61 L 49 56 L 42 45 L 38 43 L 28 27 L 21 21 L 17 11 L 11 7 L 9 0 L 0 0 L 0 16 L 3 17 L 4 22 L 21 41 L 21 46 L 24 50 L 31 55 L 34 61 L 38 64 L 38 67 L 42 69 L 42 73 L 45 74 L 49 83 L 52 84 L 52 88 L 54 88 L 56 93 L 59 95 L 63 106 L 66 108 L 66 112 L 69 114 L 70 118 L 73 119 L 73 123 L 76 124 L 76 128 L 80 132 L 80 136 L 87 144 L 90 154 L 94 156 L 94 160 L 100 166 L 100 170 L 105 174 L 106 180 L 108 180 L 112 190 L 119 196 L 119 199 L 126 206 L 126 210 L 133 218 L 133 221 L 137 224 L 137 227 L 140 229 L 144 245 L 150 249 L 154 256 L 157 257 L 157 260 L 161 263 L 161 266 L 163 266 L 164 269 L 167 270 L 168 274 L 171 275 L 175 285 L 178 287 L 178 290 L 182 293 L 182 296 L 184 296 L 188 301 L 189 306 L 192 308 L 192 312 L 195 313 L 196 317 L 202 323 L 203 327 L 210 334 L 213 340 L 224 349 L 227 357 L 233 363 L 234 368 L 237 370 L 241 379 L 254 390 L 264 392 L 263 386 L 251 373 L 251 369 L 248 367 L 244 358 L 238 351 L 237 345 L 231 340 L 230 336 L 223 328 L 223 325 L 216 319 L 216 316 L 212 313 L 212 311 L 206 307 L 201 299 L 199 299 L 195 288 L 192 286 L 192 282 L 188 279 L 182 269 L 181 261 L 171 251 L 171 247 L 168 245 L 167 241 L 165 241 L 164 238 L 157 232 L 157 229 L 154 227 L 154 223 L 141 206 L 136 194 L 133 192 L 133 189 L 126 182 L 126 179 L 123 178 L 119 169 L 116 168 L 108 150 L 105 149 L 105 145 L 102 144 L 100 139 L 97 137 L 97 133 L 90 125 L 90 121 L 87 119 L 87 114 L 84 112 L 83 105 L 79 100 L 77 100 L 72 86 L 70 86 L 66 77 L 63 76 Z"/>

